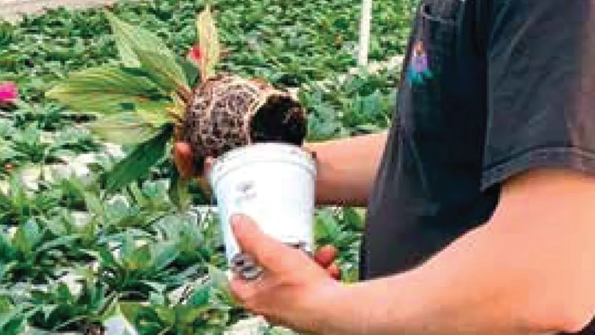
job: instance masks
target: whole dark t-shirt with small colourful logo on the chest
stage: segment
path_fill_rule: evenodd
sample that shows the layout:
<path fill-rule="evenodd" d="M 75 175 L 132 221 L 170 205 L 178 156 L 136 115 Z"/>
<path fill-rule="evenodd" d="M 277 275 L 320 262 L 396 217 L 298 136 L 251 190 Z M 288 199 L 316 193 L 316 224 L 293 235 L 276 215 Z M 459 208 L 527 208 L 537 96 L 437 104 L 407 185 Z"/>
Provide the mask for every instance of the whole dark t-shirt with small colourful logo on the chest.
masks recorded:
<path fill-rule="evenodd" d="M 595 172 L 595 1 L 422 2 L 362 279 L 418 266 L 487 222 L 515 173 Z"/>

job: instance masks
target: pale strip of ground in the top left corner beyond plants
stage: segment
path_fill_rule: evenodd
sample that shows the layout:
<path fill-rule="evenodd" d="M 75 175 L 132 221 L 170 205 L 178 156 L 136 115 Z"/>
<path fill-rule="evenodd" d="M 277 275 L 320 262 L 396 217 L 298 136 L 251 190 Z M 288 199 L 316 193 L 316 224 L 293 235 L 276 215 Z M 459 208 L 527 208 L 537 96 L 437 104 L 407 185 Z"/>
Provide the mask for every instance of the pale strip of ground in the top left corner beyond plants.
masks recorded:
<path fill-rule="evenodd" d="M 39 13 L 44 8 L 87 8 L 113 4 L 117 0 L 0 0 L 0 18 L 18 20 L 20 14 Z"/>

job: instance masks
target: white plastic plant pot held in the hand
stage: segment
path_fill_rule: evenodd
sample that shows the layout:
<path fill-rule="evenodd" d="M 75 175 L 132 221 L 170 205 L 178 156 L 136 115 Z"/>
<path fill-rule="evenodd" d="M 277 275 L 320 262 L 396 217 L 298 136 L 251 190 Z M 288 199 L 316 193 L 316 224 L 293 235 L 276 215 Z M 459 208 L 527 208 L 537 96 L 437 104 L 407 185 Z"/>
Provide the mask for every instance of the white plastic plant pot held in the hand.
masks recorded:
<path fill-rule="evenodd" d="M 226 246 L 228 265 L 242 255 L 231 216 L 252 218 L 265 234 L 314 252 L 316 164 L 300 147 L 258 143 L 228 151 L 211 167 L 209 182 Z"/>

